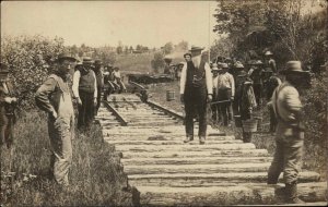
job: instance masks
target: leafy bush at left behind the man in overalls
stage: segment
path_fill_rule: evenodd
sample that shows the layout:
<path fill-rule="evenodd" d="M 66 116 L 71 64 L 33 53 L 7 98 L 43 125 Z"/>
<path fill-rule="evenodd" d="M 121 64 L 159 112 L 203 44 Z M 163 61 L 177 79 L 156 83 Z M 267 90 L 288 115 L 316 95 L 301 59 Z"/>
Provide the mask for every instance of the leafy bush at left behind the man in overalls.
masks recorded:
<path fill-rule="evenodd" d="M 49 62 L 63 51 L 63 39 L 43 36 L 1 38 L 1 62 L 9 65 L 21 107 L 34 107 L 34 94 L 49 73 Z"/>

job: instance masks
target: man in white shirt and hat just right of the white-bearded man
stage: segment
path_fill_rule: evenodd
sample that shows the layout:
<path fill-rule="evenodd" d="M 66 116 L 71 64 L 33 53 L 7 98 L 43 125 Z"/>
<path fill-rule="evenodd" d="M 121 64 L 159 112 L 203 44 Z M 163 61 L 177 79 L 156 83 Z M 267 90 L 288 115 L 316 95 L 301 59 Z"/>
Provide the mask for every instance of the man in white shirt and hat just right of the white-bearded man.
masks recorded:
<path fill-rule="evenodd" d="M 226 63 L 221 64 L 222 74 L 219 75 L 218 80 L 218 100 L 225 101 L 220 104 L 220 111 L 223 117 L 223 124 L 231 126 L 232 121 L 232 108 L 231 101 L 235 96 L 235 81 L 234 77 L 227 73 L 229 66 Z"/>

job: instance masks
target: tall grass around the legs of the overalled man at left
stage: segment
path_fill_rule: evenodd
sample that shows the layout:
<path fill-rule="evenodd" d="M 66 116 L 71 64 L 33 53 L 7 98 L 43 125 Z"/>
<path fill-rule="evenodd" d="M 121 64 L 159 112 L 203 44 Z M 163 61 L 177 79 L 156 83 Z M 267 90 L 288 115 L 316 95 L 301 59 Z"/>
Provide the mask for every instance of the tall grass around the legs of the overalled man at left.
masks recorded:
<path fill-rule="evenodd" d="M 12 151 L 1 148 L 1 204 L 4 206 L 132 206 L 127 176 L 113 146 L 94 125 L 73 139 L 70 187 L 49 180 L 50 145 L 44 113 L 23 114 Z M 14 174 L 10 175 L 13 172 Z"/>

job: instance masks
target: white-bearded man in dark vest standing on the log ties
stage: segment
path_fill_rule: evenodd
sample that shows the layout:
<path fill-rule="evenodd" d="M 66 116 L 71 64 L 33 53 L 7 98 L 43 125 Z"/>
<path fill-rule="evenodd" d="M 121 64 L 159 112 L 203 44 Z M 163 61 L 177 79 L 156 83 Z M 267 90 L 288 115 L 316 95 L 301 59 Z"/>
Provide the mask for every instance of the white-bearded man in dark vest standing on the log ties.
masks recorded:
<path fill-rule="evenodd" d="M 199 115 L 199 143 L 202 145 L 207 135 L 207 102 L 212 100 L 213 86 L 210 65 L 201 58 L 200 47 L 191 47 L 192 60 L 181 71 L 180 99 L 186 110 L 186 139 L 194 141 L 194 111 Z"/>

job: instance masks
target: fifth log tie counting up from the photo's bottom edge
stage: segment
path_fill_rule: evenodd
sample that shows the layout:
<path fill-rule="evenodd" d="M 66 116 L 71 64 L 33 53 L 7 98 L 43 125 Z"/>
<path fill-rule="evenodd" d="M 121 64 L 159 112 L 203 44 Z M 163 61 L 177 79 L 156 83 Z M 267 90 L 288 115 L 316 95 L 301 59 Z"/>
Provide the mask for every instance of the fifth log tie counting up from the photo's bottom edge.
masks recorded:
<path fill-rule="evenodd" d="M 239 149 L 239 150 L 207 150 L 207 151 L 125 151 L 122 157 L 129 158 L 172 158 L 172 157 L 255 157 L 269 156 L 267 149 Z"/>

